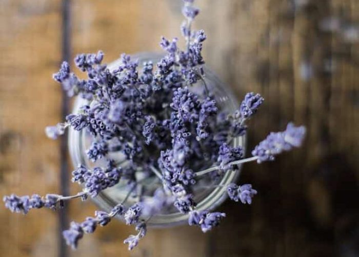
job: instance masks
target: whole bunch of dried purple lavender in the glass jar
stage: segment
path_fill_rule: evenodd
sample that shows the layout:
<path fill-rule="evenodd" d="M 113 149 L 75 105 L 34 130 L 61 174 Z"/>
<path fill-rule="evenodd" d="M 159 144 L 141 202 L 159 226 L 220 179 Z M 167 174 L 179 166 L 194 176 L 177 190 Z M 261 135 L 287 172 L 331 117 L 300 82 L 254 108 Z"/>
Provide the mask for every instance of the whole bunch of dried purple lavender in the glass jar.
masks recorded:
<path fill-rule="evenodd" d="M 63 235 L 67 244 L 76 248 L 84 234 L 93 233 L 98 225 L 105 226 L 117 216 L 135 226 L 137 234 L 124 241 L 131 250 L 146 235 L 148 221 L 171 208 L 187 215 L 189 225 L 203 232 L 211 230 L 226 214 L 196 208 L 194 188 L 200 179 L 206 178 L 209 187 L 226 187 L 233 201 L 251 204 L 257 193 L 251 185 L 223 186 L 218 185 L 218 179 L 236 172 L 238 164 L 272 161 L 276 155 L 302 144 L 305 127 L 289 123 L 285 131 L 269 134 L 250 157 L 245 157 L 240 146 L 233 146 L 235 138 L 246 134 L 246 121 L 264 99 L 248 93 L 234 113 L 226 113 L 217 105 L 205 78 L 202 48 L 206 35 L 191 26 L 199 10 L 193 6 L 194 0 L 184 2 L 184 50 L 179 48 L 178 39 L 162 38 L 160 46 L 165 54 L 157 63 L 139 64 L 122 54 L 121 64 L 111 70 L 102 63 L 102 51 L 79 54 L 74 63 L 87 73 L 85 80 L 71 72 L 67 62 L 61 65 L 53 78 L 69 97 L 84 98 L 86 104 L 63 123 L 47 127 L 46 134 L 56 139 L 71 127 L 90 135 L 92 144 L 86 155 L 94 168 L 80 164 L 72 172 L 72 181 L 83 188 L 72 196 L 5 196 L 5 206 L 10 211 L 26 214 L 34 208 L 61 208 L 66 200 L 96 197 L 125 181 L 121 185 L 128 188 L 128 194 L 122 203 L 109 213 L 96 211 L 94 217 L 82 223 L 72 222 Z M 193 90 L 194 85 L 200 90 Z M 116 155 L 124 156 L 124 161 L 118 162 L 113 158 Z M 158 182 L 151 195 L 137 190 L 146 178 Z M 128 197 L 135 192 L 137 201 L 130 205 Z"/>

